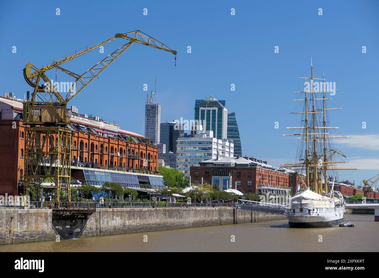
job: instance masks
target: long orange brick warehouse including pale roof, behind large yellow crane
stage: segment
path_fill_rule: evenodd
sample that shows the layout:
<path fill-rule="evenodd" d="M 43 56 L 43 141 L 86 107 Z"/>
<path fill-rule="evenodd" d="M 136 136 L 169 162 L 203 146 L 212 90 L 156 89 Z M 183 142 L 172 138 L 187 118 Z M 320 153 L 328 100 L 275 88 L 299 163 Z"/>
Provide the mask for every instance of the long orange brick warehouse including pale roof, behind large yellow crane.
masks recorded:
<path fill-rule="evenodd" d="M 72 109 L 76 110 L 75 107 Z M 2 165 L 0 194 L 2 195 L 19 194 L 18 186 L 24 173 L 26 139 L 22 112 L 23 99 L 16 99 L 13 94 L 0 96 Z M 70 124 L 67 126 L 72 130 L 72 166 L 105 171 L 138 172 L 141 173 L 139 175 L 145 175 L 146 179 L 150 175 L 158 174 L 158 148 L 149 144 L 149 140 L 143 135 L 122 130 L 118 125 L 106 123 L 98 117 L 73 112 Z"/>

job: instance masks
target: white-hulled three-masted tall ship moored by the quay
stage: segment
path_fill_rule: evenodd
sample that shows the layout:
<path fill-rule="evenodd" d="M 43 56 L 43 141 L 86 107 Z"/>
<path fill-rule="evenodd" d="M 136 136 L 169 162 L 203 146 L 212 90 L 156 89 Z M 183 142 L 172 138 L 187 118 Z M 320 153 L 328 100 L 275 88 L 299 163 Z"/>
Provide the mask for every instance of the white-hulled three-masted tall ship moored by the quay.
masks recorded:
<path fill-rule="evenodd" d="M 330 126 L 328 112 L 341 108 L 329 108 L 329 95 L 335 95 L 334 82 L 325 82 L 313 75 L 311 57 L 310 77 L 304 79 L 304 91 L 298 91 L 301 99 L 294 101 L 303 104 L 302 111 L 292 112 L 301 115 L 299 126 L 287 127 L 300 130 L 299 133 L 284 134 L 299 139 L 295 163 L 282 164 L 297 172 L 298 188 L 291 197 L 286 215 L 288 224 L 294 228 L 335 227 L 343 223 L 345 201 L 342 194 L 334 189 L 334 180 L 338 179 L 338 171 L 357 170 L 345 168 L 346 156 L 334 149 L 336 138 L 348 136 L 333 135 L 338 127 Z"/>

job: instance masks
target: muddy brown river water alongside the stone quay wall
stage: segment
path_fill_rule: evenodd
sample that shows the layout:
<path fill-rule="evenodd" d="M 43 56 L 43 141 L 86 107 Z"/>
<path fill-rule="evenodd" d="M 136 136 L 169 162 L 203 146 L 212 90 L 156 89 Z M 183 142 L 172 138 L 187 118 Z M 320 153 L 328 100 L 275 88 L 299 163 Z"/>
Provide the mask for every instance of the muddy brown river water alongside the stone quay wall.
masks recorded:
<path fill-rule="evenodd" d="M 347 217 L 355 227 L 299 229 L 279 220 L 0 245 L 0 252 L 378 252 L 379 222 L 374 216 Z"/>

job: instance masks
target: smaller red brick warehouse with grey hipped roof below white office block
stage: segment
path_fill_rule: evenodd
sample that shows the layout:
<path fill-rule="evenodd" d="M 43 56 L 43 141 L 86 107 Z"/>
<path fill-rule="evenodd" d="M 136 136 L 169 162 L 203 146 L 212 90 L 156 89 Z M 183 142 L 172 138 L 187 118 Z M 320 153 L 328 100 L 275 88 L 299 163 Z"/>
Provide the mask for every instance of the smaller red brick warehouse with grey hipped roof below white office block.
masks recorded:
<path fill-rule="evenodd" d="M 266 161 L 253 157 L 219 157 L 200 162 L 199 167 L 191 167 L 191 180 L 218 185 L 220 190 L 236 188 L 242 193 L 258 193 L 260 186 L 289 189 L 290 175 L 278 171 Z"/>

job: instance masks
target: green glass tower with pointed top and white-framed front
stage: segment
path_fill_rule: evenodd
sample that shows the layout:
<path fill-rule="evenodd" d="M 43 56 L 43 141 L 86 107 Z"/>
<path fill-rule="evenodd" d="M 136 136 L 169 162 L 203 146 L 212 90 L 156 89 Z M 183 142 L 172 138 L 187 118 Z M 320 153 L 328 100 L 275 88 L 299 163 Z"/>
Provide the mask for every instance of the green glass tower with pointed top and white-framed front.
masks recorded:
<path fill-rule="evenodd" d="M 195 101 L 195 120 L 204 130 L 212 130 L 213 136 L 217 139 L 227 138 L 227 114 L 225 101 L 218 101 L 212 95 Z"/>

